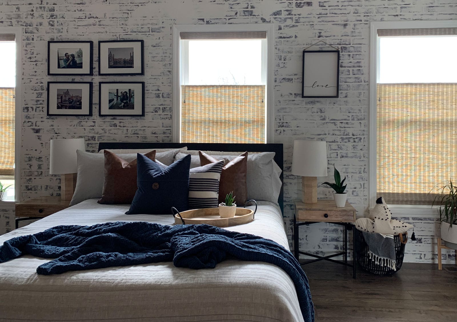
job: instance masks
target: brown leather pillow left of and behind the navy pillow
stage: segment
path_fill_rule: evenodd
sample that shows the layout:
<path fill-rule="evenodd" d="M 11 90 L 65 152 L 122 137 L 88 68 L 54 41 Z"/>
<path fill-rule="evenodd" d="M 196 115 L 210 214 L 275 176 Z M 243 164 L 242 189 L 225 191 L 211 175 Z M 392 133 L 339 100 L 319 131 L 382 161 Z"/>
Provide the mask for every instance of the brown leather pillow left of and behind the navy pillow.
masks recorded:
<path fill-rule="evenodd" d="M 105 155 L 105 182 L 98 203 L 132 203 L 137 192 L 137 159 L 125 161 L 110 151 Z M 155 150 L 146 153 L 149 159 L 155 159 Z"/>

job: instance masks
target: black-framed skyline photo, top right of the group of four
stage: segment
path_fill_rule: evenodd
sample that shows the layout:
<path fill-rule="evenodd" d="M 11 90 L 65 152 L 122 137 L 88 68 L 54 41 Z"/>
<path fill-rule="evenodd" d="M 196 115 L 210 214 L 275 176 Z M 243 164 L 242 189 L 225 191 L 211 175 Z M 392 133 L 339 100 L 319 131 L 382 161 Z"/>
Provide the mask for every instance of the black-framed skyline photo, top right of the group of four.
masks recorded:
<path fill-rule="evenodd" d="M 98 42 L 99 75 L 144 75 L 143 40 Z"/>

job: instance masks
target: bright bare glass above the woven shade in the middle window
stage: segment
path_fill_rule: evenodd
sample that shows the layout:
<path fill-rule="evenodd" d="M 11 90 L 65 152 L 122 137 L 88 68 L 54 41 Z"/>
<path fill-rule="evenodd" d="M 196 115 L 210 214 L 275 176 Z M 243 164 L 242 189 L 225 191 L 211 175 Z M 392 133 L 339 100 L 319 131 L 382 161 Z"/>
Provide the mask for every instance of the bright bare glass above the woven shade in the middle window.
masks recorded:
<path fill-rule="evenodd" d="M 186 85 L 262 85 L 261 40 L 190 40 Z"/>

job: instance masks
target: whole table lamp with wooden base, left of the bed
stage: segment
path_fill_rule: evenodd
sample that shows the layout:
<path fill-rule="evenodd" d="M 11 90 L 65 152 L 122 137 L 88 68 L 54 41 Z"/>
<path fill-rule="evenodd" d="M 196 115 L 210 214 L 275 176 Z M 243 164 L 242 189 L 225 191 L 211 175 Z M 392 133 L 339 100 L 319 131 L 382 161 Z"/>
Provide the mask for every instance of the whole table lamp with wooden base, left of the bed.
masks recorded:
<path fill-rule="evenodd" d="M 76 150 L 85 151 L 84 139 L 51 140 L 49 174 L 60 174 L 62 200 L 71 200 L 76 187 Z"/>

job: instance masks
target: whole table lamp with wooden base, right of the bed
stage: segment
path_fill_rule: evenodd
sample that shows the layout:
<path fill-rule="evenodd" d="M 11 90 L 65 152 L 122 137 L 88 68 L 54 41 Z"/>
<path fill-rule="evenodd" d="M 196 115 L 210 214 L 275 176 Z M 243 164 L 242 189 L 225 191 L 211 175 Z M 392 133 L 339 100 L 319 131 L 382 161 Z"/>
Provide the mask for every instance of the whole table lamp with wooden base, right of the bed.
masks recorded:
<path fill-rule="evenodd" d="M 317 203 L 317 177 L 327 177 L 327 142 L 293 141 L 292 174 L 302 176 L 302 202 Z"/>

